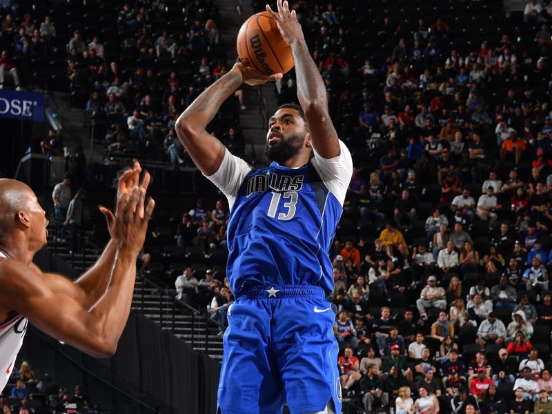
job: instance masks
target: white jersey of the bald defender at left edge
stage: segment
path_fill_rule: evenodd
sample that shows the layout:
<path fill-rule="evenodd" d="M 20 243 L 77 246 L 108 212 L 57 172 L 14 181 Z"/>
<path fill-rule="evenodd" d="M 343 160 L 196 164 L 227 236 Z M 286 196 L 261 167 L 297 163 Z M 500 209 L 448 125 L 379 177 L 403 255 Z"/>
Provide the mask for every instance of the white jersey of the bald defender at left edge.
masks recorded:
<path fill-rule="evenodd" d="M 6 255 L 0 251 L 0 257 Z M 8 383 L 17 353 L 27 331 L 27 318 L 14 313 L 0 324 L 0 390 Z"/>

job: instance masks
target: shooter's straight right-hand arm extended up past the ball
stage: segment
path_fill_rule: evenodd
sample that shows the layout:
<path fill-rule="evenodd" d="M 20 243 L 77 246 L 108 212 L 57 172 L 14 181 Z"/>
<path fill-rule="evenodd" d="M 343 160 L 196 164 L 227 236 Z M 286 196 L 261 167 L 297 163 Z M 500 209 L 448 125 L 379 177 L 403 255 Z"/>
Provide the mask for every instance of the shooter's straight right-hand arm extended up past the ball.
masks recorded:
<path fill-rule="evenodd" d="M 339 155 L 337 132 L 330 119 L 326 86 L 316 67 L 303 35 L 295 10 L 289 10 L 287 1 L 277 0 L 277 12 L 266 5 L 275 19 L 284 40 L 289 43 L 295 63 L 297 98 L 305 112 L 311 141 L 316 152 L 324 158 Z"/>

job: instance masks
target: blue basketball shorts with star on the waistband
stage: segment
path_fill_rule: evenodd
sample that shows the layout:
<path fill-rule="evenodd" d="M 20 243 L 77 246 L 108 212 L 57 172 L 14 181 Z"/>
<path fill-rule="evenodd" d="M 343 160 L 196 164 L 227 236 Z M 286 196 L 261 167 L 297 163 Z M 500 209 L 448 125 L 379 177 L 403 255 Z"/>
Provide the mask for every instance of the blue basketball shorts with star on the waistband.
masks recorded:
<path fill-rule="evenodd" d="M 228 309 L 217 414 L 341 412 L 335 314 L 318 286 L 266 286 Z"/>

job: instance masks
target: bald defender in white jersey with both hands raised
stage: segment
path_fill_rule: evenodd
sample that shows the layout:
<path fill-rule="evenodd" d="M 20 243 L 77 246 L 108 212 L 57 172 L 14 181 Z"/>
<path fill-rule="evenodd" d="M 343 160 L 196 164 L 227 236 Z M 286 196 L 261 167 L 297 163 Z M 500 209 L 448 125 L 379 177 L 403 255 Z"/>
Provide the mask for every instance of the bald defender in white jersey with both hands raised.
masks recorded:
<path fill-rule="evenodd" d="M 136 257 L 155 206 L 152 199 L 145 201 L 149 175 L 139 184 L 139 173 L 135 163 L 119 179 L 115 215 L 100 207 L 112 239 L 75 283 L 32 263 L 34 253 L 46 245 L 48 220 L 26 184 L 0 179 L 0 391 L 28 321 L 90 355 L 115 353 L 130 312 Z"/>

